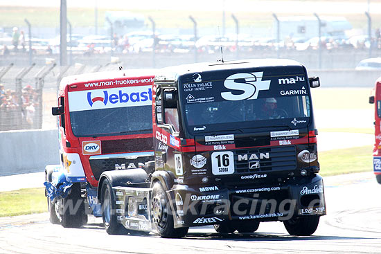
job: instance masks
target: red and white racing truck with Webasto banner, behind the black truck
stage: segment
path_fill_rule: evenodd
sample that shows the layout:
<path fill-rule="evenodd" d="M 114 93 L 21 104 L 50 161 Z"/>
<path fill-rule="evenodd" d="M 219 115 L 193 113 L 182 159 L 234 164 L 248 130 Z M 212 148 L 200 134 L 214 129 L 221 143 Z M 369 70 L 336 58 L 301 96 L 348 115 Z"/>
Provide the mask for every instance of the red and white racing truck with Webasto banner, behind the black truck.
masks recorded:
<path fill-rule="evenodd" d="M 79 227 L 89 213 L 102 216 L 100 176 L 154 160 L 153 81 L 152 70 L 62 79 L 58 107 L 52 109 L 52 114 L 59 116 L 61 164 L 46 166 L 44 183 L 53 224 Z"/>

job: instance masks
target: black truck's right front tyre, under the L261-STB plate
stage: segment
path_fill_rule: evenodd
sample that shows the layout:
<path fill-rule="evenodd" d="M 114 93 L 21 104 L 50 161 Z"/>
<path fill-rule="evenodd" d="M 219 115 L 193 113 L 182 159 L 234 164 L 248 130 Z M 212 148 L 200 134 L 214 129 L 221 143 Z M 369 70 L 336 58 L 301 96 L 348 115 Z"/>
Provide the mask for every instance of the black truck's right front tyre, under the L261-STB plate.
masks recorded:
<path fill-rule="evenodd" d="M 312 235 L 319 225 L 319 216 L 313 215 L 301 218 L 292 218 L 288 221 L 283 221 L 283 224 L 290 235 Z"/>

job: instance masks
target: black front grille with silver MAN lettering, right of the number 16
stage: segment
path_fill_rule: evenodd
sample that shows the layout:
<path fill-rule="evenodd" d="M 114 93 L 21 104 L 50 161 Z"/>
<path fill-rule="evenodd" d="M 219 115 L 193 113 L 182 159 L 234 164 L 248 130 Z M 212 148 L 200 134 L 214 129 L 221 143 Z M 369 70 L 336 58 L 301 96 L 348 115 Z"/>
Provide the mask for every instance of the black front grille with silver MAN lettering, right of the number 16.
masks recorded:
<path fill-rule="evenodd" d="M 296 147 L 294 145 L 283 147 L 261 147 L 257 149 L 238 149 L 233 151 L 233 153 L 234 165 L 236 167 L 236 172 L 238 173 L 296 169 Z M 253 156 L 252 154 L 255 155 Z M 264 156 L 261 156 L 263 154 Z M 269 158 L 266 158 L 265 155 L 267 154 L 269 155 Z M 238 158 L 241 159 L 239 160 Z"/>

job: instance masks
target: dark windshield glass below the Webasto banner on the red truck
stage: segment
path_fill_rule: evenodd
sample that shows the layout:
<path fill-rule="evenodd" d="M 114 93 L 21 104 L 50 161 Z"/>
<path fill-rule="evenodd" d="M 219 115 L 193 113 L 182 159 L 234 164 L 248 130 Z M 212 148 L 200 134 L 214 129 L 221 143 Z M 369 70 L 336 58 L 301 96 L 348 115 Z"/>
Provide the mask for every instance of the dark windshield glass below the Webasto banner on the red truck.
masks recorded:
<path fill-rule="evenodd" d="M 70 113 L 75 136 L 152 133 L 152 106 L 119 107 Z"/>

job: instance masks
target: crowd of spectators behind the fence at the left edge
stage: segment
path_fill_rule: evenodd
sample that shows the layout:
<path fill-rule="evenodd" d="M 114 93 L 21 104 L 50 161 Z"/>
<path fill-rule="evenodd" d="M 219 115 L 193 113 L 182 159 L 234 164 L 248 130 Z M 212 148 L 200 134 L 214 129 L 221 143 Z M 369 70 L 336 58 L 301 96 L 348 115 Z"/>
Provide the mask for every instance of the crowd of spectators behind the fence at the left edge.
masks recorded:
<path fill-rule="evenodd" d="M 39 94 L 26 85 L 20 92 L 0 84 L 0 131 L 32 129 Z"/>

